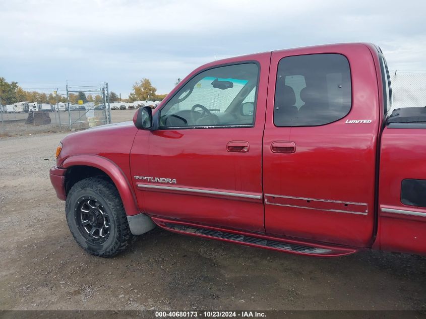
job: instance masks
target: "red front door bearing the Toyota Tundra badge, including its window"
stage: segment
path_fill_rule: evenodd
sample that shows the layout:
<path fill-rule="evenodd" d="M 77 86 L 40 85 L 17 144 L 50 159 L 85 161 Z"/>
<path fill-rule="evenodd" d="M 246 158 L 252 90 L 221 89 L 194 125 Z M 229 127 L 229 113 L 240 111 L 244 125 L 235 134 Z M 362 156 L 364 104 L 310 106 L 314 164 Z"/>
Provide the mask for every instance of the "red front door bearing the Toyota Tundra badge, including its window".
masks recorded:
<path fill-rule="evenodd" d="M 194 72 L 157 111 L 159 130 L 137 133 L 131 171 L 142 211 L 264 231 L 262 132 L 269 56 Z"/>

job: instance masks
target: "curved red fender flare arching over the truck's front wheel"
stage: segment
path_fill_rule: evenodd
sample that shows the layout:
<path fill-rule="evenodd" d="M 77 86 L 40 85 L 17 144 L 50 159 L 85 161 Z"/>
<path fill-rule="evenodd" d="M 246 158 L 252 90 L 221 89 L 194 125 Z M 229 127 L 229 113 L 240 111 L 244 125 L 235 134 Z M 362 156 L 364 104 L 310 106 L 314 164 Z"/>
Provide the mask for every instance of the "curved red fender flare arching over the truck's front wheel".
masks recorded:
<path fill-rule="evenodd" d="M 123 170 L 111 160 L 99 155 L 74 155 L 68 157 L 61 165 L 61 168 L 70 168 L 72 166 L 92 166 L 100 169 L 107 174 L 117 187 L 121 201 L 123 201 L 127 216 L 137 215 L 138 206 L 133 189 Z"/>

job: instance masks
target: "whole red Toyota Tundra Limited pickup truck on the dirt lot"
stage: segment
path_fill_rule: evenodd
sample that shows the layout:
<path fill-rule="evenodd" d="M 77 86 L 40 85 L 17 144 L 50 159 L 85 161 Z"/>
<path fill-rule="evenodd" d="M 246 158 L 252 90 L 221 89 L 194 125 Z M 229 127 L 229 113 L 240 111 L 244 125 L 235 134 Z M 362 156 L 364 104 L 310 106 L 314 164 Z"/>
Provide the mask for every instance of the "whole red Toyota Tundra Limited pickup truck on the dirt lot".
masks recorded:
<path fill-rule="evenodd" d="M 391 112 L 372 44 L 214 61 L 133 123 L 65 137 L 50 179 L 110 257 L 155 225 L 318 257 L 426 253 L 426 108 Z"/>

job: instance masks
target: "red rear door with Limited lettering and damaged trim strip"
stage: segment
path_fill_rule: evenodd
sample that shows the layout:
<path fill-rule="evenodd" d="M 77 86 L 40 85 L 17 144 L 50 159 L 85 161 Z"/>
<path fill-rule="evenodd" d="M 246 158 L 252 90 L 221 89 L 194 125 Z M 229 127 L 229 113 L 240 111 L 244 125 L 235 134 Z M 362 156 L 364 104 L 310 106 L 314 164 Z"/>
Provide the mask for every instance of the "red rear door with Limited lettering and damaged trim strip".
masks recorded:
<path fill-rule="evenodd" d="M 266 232 L 369 245 L 379 118 L 369 49 L 349 44 L 277 51 L 270 68 Z"/>

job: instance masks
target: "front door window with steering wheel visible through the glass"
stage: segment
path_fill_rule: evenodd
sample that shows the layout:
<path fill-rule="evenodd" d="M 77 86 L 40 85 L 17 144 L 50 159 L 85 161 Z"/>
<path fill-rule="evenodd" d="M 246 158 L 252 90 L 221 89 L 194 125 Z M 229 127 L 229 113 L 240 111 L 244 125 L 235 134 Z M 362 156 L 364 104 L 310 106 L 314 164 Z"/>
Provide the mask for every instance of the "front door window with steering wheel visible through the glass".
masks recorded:
<path fill-rule="evenodd" d="M 255 63 L 201 72 L 161 109 L 160 127 L 252 125 L 257 82 Z"/>

